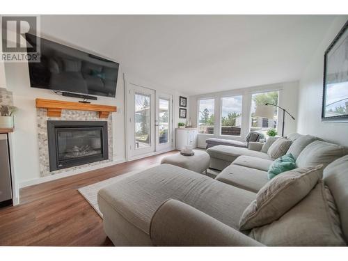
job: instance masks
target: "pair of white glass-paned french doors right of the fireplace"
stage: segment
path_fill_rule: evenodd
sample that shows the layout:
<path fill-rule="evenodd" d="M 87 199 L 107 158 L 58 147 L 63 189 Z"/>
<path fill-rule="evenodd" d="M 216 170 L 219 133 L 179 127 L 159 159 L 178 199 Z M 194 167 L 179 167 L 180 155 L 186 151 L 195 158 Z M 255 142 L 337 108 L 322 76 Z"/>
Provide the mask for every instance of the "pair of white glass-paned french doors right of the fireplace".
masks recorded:
<path fill-rule="evenodd" d="M 170 150 L 172 139 L 172 95 L 127 84 L 127 159 Z"/>

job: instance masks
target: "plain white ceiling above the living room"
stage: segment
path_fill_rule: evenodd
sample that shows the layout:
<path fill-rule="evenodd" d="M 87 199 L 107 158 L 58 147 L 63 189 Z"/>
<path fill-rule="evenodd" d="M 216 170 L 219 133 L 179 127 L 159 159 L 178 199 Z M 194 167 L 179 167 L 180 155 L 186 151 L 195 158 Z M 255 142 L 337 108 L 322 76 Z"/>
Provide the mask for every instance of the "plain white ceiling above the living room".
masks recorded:
<path fill-rule="evenodd" d="M 333 15 L 45 15 L 42 34 L 187 95 L 295 81 Z"/>

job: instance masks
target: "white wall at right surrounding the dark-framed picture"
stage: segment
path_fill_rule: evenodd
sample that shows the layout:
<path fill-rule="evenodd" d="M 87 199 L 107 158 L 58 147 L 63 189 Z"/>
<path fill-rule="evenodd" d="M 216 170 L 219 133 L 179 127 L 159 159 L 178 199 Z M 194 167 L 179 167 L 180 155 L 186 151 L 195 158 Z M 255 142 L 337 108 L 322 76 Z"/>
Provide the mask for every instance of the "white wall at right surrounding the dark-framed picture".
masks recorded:
<path fill-rule="evenodd" d="M 299 82 L 299 123 L 301 134 L 312 134 L 327 141 L 348 145 L 348 122 L 322 122 L 324 52 L 347 22 L 348 15 L 336 18 L 304 70 Z"/>

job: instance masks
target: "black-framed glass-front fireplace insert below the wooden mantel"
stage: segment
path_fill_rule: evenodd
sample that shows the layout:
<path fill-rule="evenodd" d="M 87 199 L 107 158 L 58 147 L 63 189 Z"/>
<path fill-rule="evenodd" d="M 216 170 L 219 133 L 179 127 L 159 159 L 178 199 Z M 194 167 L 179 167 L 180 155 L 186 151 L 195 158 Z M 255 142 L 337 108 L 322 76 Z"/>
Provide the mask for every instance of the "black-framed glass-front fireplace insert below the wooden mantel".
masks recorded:
<path fill-rule="evenodd" d="M 109 159 L 106 121 L 47 120 L 49 171 Z"/>

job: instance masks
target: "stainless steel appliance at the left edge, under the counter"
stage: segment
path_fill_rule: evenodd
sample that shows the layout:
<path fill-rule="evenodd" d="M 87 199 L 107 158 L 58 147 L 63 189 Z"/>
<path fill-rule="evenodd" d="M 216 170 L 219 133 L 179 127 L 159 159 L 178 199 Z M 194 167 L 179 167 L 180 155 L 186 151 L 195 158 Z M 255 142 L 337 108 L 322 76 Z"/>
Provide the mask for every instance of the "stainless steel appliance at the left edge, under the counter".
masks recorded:
<path fill-rule="evenodd" d="M 12 182 L 7 134 L 0 134 L 0 207 L 12 204 Z"/>

